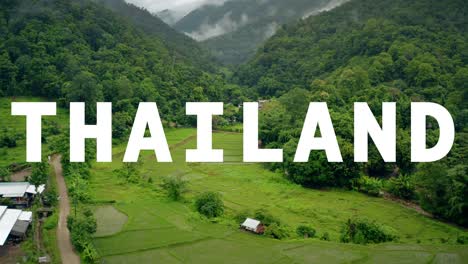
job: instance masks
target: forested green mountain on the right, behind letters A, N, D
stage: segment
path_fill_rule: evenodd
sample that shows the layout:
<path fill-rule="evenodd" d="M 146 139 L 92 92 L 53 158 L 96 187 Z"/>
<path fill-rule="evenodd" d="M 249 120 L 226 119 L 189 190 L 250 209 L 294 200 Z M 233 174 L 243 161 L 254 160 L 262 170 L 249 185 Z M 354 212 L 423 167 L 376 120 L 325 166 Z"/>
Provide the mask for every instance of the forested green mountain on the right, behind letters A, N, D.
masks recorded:
<path fill-rule="evenodd" d="M 306 186 L 343 186 L 364 173 L 379 178 L 411 175 L 423 207 L 437 216 L 468 222 L 468 5 L 464 0 L 352 0 L 295 25 L 283 26 L 235 78 L 273 99 L 260 120 L 262 142 L 284 146 L 278 167 Z M 328 102 L 344 164 L 324 153 L 291 162 L 309 102 Z M 397 163 L 370 147 L 370 161 L 353 163 L 353 103 L 397 102 Z M 445 106 L 457 130 L 451 154 L 438 163 L 410 162 L 410 102 Z M 285 121 L 286 120 L 286 121 Z M 428 145 L 438 140 L 429 126 Z M 349 161 L 347 163 L 346 161 Z M 276 168 L 276 166 L 275 166 Z"/>

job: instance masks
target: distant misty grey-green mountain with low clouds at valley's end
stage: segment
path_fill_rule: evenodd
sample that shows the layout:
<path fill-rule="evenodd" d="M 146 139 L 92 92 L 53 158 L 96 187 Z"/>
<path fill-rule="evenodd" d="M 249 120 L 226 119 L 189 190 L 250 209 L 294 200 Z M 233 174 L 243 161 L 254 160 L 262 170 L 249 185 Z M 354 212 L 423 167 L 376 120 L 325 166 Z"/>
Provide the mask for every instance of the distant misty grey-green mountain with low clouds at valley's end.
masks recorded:
<path fill-rule="evenodd" d="M 192 11 L 174 27 L 213 51 L 220 61 L 238 64 L 282 24 L 331 9 L 345 0 L 231 0 Z"/>

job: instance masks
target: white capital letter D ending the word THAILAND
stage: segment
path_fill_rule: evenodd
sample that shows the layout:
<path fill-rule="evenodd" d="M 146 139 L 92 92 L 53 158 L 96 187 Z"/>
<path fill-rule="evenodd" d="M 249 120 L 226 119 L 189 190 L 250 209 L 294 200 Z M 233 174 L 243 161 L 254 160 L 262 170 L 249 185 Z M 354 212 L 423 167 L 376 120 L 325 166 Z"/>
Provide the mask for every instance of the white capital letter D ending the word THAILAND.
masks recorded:
<path fill-rule="evenodd" d="M 426 117 L 439 123 L 439 142 L 426 149 Z M 435 103 L 411 103 L 411 161 L 434 162 L 445 157 L 455 140 L 455 126 L 450 113 Z"/>

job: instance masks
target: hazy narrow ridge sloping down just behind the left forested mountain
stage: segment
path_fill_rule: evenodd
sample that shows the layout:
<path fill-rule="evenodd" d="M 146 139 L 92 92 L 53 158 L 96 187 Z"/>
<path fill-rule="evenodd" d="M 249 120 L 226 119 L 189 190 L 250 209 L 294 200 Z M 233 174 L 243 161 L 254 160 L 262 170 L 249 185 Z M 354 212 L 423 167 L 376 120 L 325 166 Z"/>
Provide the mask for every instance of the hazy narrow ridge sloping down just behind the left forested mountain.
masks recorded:
<path fill-rule="evenodd" d="M 213 70 L 213 59 L 208 50 L 202 48 L 192 38 L 177 32 L 160 18 L 146 9 L 139 8 L 124 0 L 94 0 L 104 4 L 115 13 L 128 19 L 143 32 L 160 38 L 167 49 L 174 54 L 174 59 L 182 59 L 196 64 L 203 69 Z"/>

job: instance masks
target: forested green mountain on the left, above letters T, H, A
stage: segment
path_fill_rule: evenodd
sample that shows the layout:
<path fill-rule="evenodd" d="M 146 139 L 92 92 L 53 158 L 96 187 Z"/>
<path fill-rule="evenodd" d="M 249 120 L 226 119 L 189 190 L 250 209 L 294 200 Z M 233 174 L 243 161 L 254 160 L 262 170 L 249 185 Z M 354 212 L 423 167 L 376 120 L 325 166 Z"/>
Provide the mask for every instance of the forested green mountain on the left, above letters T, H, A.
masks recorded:
<path fill-rule="evenodd" d="M 140 101 L 156 101 L 163 119 L 184 123 L 185 102 L 230 97 L 221 76 L 175 55 L 179 43 L 144 34 L 92 1 L 10 0 L 0 8 L 1 96 L 84 101 L 89 117 L 95 102 L 114 102 L 119 136 Z"/>

